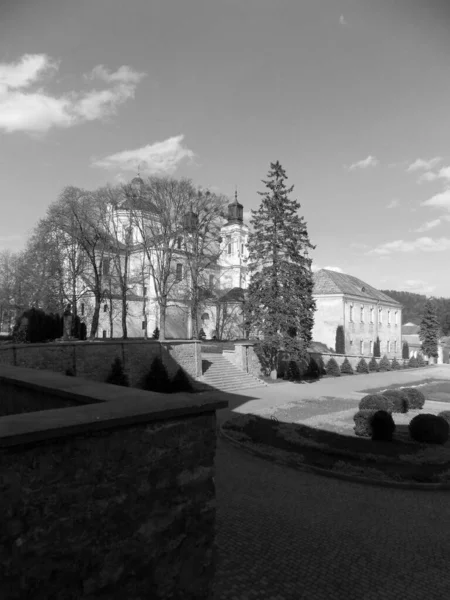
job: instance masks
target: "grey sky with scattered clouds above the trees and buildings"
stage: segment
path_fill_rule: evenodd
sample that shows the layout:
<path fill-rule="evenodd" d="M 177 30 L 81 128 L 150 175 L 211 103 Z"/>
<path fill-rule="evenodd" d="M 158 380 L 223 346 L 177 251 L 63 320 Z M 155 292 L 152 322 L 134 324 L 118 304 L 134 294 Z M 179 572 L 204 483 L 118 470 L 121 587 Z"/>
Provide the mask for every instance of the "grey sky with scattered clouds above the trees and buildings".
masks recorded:
<path fill-rule="evenodd" d="M 248 215 L 279 160 L 315 269 L 450 296 L 447 5 L 3 0 L 0 248 L 138 168 Z"/>

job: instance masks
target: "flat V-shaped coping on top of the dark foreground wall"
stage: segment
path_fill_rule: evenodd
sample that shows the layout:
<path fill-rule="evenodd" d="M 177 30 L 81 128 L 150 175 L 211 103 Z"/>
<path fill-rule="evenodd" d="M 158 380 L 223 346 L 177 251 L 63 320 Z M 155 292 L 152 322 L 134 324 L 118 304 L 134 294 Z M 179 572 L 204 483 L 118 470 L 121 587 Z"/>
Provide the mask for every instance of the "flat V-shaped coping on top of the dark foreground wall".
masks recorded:
<path fill-rule="evenodd" d="M 100 431 L 181 416 L 195 416 L 226 408 L 214 392 L 199 395 L 159 394 L 124 388 L 52 371 L 0 365 L 0 385 L 19 387 L 70 398 L 77 406 L 0 417 L 0 448 Z M 87 404 L 94 402 L 94 404 Z"/>

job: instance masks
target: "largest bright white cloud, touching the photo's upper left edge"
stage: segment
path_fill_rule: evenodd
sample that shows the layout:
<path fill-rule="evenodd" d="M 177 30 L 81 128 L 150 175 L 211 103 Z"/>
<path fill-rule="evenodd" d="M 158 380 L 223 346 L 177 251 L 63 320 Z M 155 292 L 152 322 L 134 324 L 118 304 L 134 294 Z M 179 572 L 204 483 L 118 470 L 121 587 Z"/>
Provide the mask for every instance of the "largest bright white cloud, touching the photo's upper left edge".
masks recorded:
<path fill-rule="evenodd" d="M 0 63 L 0 130 L 43 133 L 114 115 L 119 105 L 134 97 L 144 77 L 127 66 L 110 73 L 99 65 L 89 77 L 103 78 L 111 87 L 57 96 L 42 84 L 45 75 L 58 69 L 59 63 L 46 54 L 25 54 L 15 63 Z"/>

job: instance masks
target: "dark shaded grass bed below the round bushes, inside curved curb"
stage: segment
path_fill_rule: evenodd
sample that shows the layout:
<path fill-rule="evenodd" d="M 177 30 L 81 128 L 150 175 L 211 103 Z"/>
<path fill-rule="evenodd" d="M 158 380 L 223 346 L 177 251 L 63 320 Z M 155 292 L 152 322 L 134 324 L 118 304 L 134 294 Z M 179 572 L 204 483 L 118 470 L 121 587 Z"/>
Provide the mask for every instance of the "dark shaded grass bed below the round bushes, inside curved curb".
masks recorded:
<path fill-rule="evenodd" d="M 349 437 L 306 425 L 240 415 L 224 424 L 244 444 L 261 444 L 297 456 L 305 464 L 388 481 L 450 481 L 450 444 L 430 446 L 410 440 L 398 425 L 392 442 Z"/>

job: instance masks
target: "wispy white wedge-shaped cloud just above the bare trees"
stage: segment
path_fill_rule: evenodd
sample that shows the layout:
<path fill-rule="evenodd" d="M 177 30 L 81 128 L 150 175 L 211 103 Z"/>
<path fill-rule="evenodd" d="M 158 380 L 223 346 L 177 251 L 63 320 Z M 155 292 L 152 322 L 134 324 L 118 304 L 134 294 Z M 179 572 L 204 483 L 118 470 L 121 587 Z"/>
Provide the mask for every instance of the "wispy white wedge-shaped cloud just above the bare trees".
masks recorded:
<path fill-rule="evenodd" d="M 92 166 L 121 171 L 147 171 L 149 173 L 173 173 L 180 162 L 193 159 L 195 154 L 183 146 L 184 135 L 177 135 L 163 142 L 148 144 L 135 150 L 124 150 L 105 158 L 94 160 Z"/>

